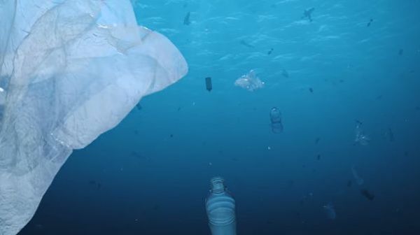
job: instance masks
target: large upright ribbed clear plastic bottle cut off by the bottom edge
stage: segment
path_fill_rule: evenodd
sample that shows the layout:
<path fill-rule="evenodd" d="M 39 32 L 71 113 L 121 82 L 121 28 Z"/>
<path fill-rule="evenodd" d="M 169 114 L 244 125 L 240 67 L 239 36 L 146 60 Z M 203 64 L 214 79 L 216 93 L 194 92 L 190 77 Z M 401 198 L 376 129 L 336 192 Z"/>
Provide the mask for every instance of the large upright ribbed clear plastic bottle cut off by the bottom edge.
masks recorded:
<path fill-rule="evenodd" d="M 226 190 L 222 177 L 211 178 L 210 183 L 206 210 L 211 234 L 236 235 L 235 199 Z"/>

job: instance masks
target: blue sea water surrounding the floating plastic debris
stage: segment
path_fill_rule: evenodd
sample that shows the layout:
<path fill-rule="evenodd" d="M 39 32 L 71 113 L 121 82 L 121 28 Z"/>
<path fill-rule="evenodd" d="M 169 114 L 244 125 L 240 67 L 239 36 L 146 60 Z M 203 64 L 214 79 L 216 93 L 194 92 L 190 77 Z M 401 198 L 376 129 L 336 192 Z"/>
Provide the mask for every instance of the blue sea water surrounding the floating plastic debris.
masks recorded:
<path fill-rule="evenodd" d="M 188 76 L 74 152 L 20 234 L 210 234 L 204 198 L 219 175 L 238 235 L 420 234 L 419 0 L 134 6 Z M 264 87 L 235 86 L 251 69 Z"/>

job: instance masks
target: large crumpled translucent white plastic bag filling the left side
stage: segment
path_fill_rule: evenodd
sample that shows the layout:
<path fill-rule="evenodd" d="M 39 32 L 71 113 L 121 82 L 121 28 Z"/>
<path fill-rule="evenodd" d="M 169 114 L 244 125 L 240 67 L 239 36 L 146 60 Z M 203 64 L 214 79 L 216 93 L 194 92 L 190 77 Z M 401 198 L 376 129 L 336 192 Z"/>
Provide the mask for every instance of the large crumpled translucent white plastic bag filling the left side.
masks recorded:
<path fill-rule="evenodd" d="M 0 0 L 0 234 L 34 215 L 73 149 L 184 76 L 129 0 Z"/>

